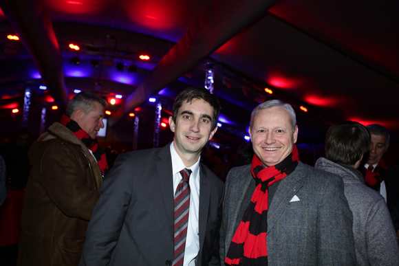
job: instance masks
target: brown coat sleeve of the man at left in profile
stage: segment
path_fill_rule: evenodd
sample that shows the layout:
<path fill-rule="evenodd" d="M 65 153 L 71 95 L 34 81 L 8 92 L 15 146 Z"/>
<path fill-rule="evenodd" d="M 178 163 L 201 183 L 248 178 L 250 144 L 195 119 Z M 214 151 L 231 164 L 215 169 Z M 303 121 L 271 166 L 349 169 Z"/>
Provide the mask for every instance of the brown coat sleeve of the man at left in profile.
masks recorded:
<path fill-rule="evenodd" d="M 41 184 L 65 215 L 90 220 L 100 196 L 89 161 L 79 148 L 54 142 L 41 158 Z"/>

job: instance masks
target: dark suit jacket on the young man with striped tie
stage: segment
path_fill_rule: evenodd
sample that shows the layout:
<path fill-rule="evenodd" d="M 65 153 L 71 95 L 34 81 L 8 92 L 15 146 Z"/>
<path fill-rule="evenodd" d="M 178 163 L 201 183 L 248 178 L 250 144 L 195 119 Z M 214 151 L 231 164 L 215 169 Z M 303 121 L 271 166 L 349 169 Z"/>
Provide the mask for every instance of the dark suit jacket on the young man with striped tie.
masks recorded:
<path fill-rule="evenodd" d="M 223 182 L 200 164 L 197 265 L 219 265 Z M 122 153 L 105 177 L 79 265 L 168 265 L 173 261 L 169 144 Z"/>

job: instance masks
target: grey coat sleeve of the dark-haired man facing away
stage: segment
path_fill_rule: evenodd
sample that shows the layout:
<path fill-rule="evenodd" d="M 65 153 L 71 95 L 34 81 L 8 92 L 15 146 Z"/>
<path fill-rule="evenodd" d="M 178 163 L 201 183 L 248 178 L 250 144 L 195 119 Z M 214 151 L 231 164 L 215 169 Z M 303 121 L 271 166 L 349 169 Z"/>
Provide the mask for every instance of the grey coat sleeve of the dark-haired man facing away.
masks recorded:
<path fill-rule="evenodd" d="M 399 247 L 385 200 L 370 206 L 365 228 L 367 256 L 371 266 L 398 265 Z"/>

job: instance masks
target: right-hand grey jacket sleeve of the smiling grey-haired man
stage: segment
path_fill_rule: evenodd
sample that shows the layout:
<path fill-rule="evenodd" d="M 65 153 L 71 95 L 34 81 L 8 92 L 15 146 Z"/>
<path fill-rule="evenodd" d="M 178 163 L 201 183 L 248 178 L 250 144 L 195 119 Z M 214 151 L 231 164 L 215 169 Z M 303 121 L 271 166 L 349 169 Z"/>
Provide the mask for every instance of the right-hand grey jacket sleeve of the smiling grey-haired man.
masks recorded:
<path fill-rule="evenodd" d="M 317 265 L 356 265 L 352 212 L 343 180 L 329 173 L 324 175 L 316 223 Z"/>

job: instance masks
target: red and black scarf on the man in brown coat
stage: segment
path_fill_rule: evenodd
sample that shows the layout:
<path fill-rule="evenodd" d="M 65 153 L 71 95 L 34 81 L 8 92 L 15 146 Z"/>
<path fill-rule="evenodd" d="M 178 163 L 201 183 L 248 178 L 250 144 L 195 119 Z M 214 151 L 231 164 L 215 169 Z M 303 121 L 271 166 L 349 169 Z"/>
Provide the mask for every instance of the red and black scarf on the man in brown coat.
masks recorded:
<path fill-rule="evenodd" d="M 100 166 L 101 172 L 103 172 L 103 176 L 108 173 L 108 164 L 107 157 L 105 157 L 105 151 L 100 148 L 100 144 L 98 144 L 98 140 L 92 139 L 90 135 L 80 128 L 78 123 L 71 118 L 68 118 L 67 115 L 63 115 L 61 118 L 61 124 L 67 127 L 74 135 L 85 144 L 85 146 L 93 153 L 94 157 L 96 157 L 98 166 Z"/>

